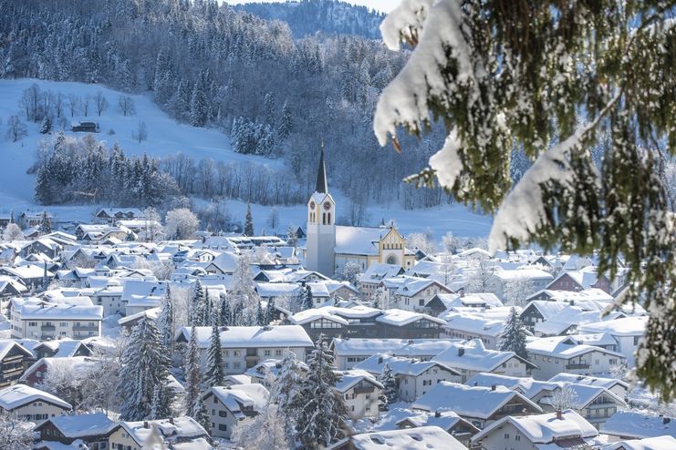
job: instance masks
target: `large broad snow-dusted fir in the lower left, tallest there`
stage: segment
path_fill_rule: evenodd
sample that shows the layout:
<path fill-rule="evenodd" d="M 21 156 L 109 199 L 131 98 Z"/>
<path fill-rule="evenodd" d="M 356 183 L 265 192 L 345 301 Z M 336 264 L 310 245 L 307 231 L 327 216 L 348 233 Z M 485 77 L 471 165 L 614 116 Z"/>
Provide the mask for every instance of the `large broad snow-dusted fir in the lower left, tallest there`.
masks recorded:
<path fill-rule="evenodd" d="M 133 328 L 121 364 L 120 419 L 142 420 L 151 414 L 155 387 L 167 384 L 169 378 L 169 356 L 152 321 L 142 318 Z"/>

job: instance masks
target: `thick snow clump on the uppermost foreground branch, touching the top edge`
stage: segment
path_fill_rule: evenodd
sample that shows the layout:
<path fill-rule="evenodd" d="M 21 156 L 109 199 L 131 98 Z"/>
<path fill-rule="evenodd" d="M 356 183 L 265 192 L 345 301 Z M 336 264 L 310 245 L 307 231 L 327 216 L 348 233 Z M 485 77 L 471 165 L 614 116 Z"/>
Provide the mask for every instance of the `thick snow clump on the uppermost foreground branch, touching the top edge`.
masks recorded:
<path fill-rule="evenodd" d="M 421 122 L 429 120 L 428 98 L 443 99 L 459 88 L 449 86 L 448 78 L 442 73 L 449 59 L 454 59 L 458 66 L 458 76 L 452 82 L 466 85 L 473 79 L 471 49 L 461 28 L 460 2 L 439 0 L 429 8 L 426 17 L 415 12 L 416 7 L 420 11 L 423 5 L 431 3 L 429 0 L 404 1 L 380 27 L 385 42 L 388 46 L 394 44 L 395 48 L 403 27 L 411 26 L 411 23 L 421 27 L 420 44 L 380 96 L 373 130 L 381 146 L 387 143 L 388 136 L 396 137 L 398 125 L 420 130 Z M 421 19 L 424 19 L 423 24 L 419 22 Z"/>

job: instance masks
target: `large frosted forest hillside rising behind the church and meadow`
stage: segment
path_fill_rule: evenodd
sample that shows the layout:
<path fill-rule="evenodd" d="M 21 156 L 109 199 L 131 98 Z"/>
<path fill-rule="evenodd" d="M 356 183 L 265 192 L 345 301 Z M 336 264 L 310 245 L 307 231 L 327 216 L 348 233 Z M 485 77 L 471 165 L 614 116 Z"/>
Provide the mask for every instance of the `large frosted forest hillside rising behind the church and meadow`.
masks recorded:
<path fill-rule="evenodd" d="M 0 77 L 148 93 L 173 118 L 230 135 L 237 152 L 283 159 L 306 190 L 323 140 L 331 189 L 358 212 L 373 201 L 412 209 L 446 200 L 401 183 L 441 134 L 405 140 L 401 155 L 374 138 L 380 91 L 408 57 L 380 41 L 295 38 L 284 22 L 216 0 L 0 0 L 0 11 Z M 199 182 L 183 190 L 208 195 Z"/>

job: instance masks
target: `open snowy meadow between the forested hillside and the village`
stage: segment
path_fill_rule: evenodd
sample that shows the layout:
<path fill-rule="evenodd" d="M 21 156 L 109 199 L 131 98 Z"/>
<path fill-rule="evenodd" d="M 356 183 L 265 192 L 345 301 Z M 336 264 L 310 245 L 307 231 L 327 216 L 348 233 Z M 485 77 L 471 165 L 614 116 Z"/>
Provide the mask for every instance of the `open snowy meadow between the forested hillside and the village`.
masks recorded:
<path fill-rule="evenodd" d="M 96 121 L 100 128 L 97 138 L 108 142 L 110 145 L 118 142 L 127 154 L 147 153 L 153 157 L 165 157 L 182 152 L 193 159 L 211 158 L 216 161 L 260 164 L 271 169 L 283 169 L 284 167 L 281 160 L 235 153 L 230 147 L 229 138 L 216 129 L 194 128 L 177 123 L 152 103 L 148 96 L 130 96 L 133 98 L 136 112 L 133 116 L 125 117 L 118 106 L 118 98 L 123 94 L 107 87 L 35 79 L 5 79 L 0 80 L 0 131 L 2 131 L 0 133 L 0 161 L 2 162 L 0 212 L 38 208 L 33 200 L 34 177 L 26 174 L 26 170 L 34 162 L 38 142 L 46 136 L 38 133 L 40 124 L 26 123 L 28 129 L 26 138 L 22 138 L 18 142 L 11 142 L 11 139 L 5 137 L 6 124 L 10 116 L 18 115 L 26 122 L 25 114 L 22 114 L 19 106 L 19 100 L 22 92 L 33 83 L 36 83 L 42 91 L 50 90 L 55 94 L 60 92 L 64 97 L 68 97 L 68 94 L 75 94 L 78 97 L 94 97 L 100 90 L 108 100 L 108 109 L 98 117 L 92 99 L 88 117 L 80 114 L 70 118 L 68 107 L 64 107 L 68 127 L 70 122 Z M 132 132 L 138 128 L 141 120 L 145 122 L 148 129 L 148 139 L 139 143 L 132 138 Z M 55 121 L 54 128 L 56 130 L 61 128 L 58 120 Z M 114 134 L 109 134 L 111 129 L 114 130 Z M 70 131 L 66 131 L 66 134 L 83 135 L 83 133 L 72 133 Z M 348 210 L 348 200 L 339 192 L 332 191 L 332 194 L 338 203 L 338 217 L 345 215 Z M 89 220 L 97 206 L 48 207 L 47 210 L 56 215 L 57 221 Z M 244 221 L 246 209 L 244 202 L 230 200 L 227 202 L 227 209 L 234 220 Z M 253 205 L 252 210 L 257 233 L 264 229 L 268 233 L 284 232 L 289 224 L 303 226 L 306 221 L 305 205 L 277 207 L 280 225 L 276 230 L 270 230 L 266 222 L 271 207 Z M 452 231 L 457 236 L 486 236 L 492 221 L 488 216 L 475 214 L 458 205 L 408 211 L 373 204 L 369 206 L 368 215 L 368 225 L 377 225 L 381 219 L 394 219 L 400 231 L 404 234 L 431 229 L 437 238 L 441 238 L 447 231 Z"/>

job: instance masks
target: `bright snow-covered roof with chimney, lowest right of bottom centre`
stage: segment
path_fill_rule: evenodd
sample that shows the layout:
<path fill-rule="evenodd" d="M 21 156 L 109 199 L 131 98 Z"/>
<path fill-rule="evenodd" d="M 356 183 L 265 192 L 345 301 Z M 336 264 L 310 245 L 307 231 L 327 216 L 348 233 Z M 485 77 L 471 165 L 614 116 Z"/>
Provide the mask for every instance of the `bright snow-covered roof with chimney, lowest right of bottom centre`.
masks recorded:
<path fill-rule="evenodd" d="M 520 417 L 508 415 L 486 426 L 479 434 L 473 436 L 472 441 L 478 442 L 506 423 L 513 424 L 533 444 L 549 444 L 559 438 L 577 437 L 584 439 L 598 436 L 598 431 L 594 428 L 594 425 L 589 424 L 584 417 L 575 411 L 568 409 L 563 411 L 561 416 L 562 418 L 558 419 L 556 413 Z"/>

